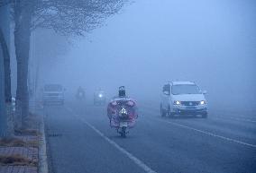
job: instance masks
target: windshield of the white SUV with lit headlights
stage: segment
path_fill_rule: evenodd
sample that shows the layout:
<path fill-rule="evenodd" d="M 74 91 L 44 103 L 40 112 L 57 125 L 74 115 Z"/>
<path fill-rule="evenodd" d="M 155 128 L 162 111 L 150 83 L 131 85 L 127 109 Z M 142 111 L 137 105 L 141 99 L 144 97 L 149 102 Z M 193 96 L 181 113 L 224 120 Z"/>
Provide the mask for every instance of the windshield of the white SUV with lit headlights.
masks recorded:
<path fill-rule="evenodd" d="M 171 87 L 173 95 L 179 94 L 201 94 L 199 87 L 196 84 L 178 84 Z"/>

